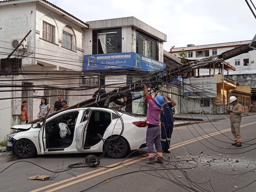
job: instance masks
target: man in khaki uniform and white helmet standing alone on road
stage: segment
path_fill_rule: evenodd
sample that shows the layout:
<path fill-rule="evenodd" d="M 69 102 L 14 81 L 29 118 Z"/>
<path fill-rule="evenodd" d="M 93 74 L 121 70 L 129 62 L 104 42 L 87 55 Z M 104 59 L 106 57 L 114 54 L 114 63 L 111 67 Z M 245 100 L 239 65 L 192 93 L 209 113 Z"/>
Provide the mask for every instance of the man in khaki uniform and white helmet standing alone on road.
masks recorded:
<path fill-rule="evenodd" d="M 232 104 L 231 109 L 227 110 L 230 118 L 231 132 L 234 136 L 235 143 L 231 145 L 235 145 L 236 147 L 242 146 L 242 139 L 240 133 L 240 123 L 242 120 L 243 107 L 240 103 L 237 102 L 237 98 L 231 96 L 229 98 L 229 103 Z"/>

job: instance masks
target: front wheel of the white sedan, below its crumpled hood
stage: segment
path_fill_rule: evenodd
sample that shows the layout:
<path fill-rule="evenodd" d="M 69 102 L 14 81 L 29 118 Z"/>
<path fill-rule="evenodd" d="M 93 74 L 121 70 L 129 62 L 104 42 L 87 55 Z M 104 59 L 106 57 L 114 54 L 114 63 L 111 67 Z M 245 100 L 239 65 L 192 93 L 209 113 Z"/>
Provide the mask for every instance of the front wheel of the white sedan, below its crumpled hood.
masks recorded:
<path fill-rule="evenodd" d="M 20 159 L 29 159 L 34 157 L 36 148 L 29 139 L 19 139 L 14 145 L 14 152 Z"/>

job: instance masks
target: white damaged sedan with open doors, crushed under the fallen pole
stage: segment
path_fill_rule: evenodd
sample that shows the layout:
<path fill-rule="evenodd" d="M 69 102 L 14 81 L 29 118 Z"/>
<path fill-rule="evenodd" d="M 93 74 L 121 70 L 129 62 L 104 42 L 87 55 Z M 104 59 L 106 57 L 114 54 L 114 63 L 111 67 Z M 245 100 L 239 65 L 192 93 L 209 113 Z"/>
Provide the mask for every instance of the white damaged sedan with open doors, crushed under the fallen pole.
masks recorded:
<path fill-rule="evenodd" d="M 18 158 L 103 152 L 104 148 L 110 158 L 122 158 L 129 150 L 146 147 L 144 117 L 97 107 L 65 110 L 47 118 L 48 113 L 43 122 L 11 128 L 16 132 L 8 135 L 7 147 Z"/>

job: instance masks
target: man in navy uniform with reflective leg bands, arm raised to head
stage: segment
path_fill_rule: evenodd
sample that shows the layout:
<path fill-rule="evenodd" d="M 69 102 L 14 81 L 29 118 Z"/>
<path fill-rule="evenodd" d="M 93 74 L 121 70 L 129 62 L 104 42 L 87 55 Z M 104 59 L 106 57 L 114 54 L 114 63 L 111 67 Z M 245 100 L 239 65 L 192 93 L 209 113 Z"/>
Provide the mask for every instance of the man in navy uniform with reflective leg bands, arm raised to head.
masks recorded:
<path fill-rule="evenodd" d="M 161 144 L 164 153 L 171 153 L 168 149 L 170 148 L 174 122 L 172 107 L 177 104 L 171 98 L 166 98 L 170 102 L 163 102 L 163 110 L 161 112 Z"/>

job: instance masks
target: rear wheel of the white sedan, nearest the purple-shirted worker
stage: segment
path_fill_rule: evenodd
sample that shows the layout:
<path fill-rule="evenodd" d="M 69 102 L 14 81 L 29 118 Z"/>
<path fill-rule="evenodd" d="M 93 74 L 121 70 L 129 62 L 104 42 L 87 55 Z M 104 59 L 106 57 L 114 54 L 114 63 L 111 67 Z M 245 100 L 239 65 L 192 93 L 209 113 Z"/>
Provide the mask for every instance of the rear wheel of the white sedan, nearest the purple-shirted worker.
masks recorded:
<path fill-rule="evenodd" d="M 106 141 L 106 153 L 110 158 L 123 158 L 127 152 L 128 143 L 124 138 L 118 137 L 117 139 Z"/>

